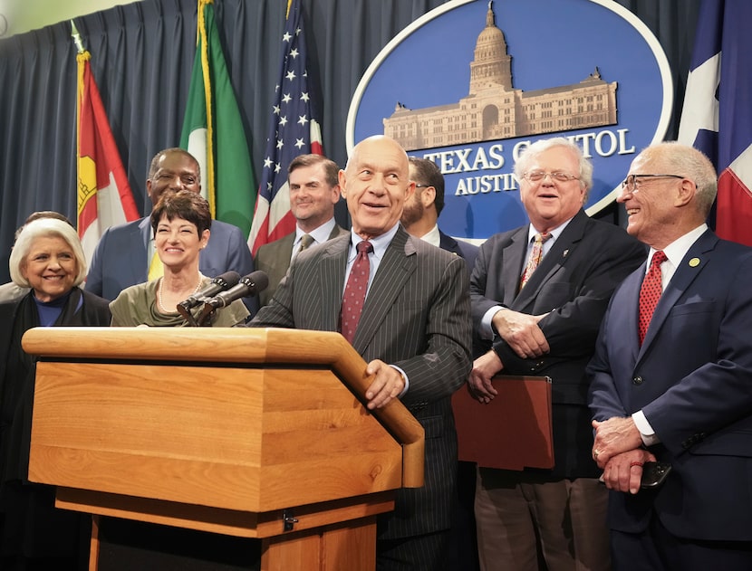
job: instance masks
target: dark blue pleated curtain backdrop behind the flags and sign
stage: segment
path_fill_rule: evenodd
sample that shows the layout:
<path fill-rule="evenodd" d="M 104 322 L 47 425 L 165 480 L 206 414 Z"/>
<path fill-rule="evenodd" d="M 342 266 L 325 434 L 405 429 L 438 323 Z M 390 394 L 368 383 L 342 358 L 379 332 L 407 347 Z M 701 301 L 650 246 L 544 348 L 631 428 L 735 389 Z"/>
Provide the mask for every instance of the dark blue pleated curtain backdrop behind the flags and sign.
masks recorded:
<path fill-rule="evenodd" d="M 345 120 L 363 71 L 444 0 L 303 0 L 326 154 L 346 160 Z M 659 39 L 674 74 L 676 136 L 699 0 L 620 0 Z M 227 65 L 260 172 L 285 0 L 216 0 Z M 143 0 L 76 19 L 141 214 L 149 159 L 177 146 L 196 42 L 196 0 Z M 576 41 L 583 41 L 579 38 Z M 75 219 L 76 49 L 68 22 L 0 40 L 0 283 L 14 231 L 36 210 Z M 416 62 L 419 65 L 419 62 Z M 341 211 L 339 215 L 342 215 Z"/>

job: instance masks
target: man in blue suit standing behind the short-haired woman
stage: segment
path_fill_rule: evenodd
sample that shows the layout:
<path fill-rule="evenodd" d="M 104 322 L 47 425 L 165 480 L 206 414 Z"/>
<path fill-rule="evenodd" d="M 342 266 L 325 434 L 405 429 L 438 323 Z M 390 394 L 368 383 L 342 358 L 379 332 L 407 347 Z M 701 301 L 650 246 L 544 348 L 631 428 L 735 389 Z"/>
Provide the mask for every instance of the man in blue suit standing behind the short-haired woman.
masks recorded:
<path fill-rule="evenodd" d="M 198 161 L 182 148 L 166 148 L 151 160 L 146 181 L 151 204 L 156 205 L 159 196 L 167 189 L 201 192 Z M 149 266 L 154 254 L 149 216 L 108 228 L 94 250 L 86 276 L 86 290 L 106 300 L 114 300 L 121 290 L 151 279 Z M 201 252 L 198 269 L 210 278 L 231 270 L 241 276 L 253 271 L 251 252 L 240 229 L 218 220 L 212 221 L 211 237 Z M 248 299 L 246 305 L 251 314 L 257 309 L 255 298 Z"/>

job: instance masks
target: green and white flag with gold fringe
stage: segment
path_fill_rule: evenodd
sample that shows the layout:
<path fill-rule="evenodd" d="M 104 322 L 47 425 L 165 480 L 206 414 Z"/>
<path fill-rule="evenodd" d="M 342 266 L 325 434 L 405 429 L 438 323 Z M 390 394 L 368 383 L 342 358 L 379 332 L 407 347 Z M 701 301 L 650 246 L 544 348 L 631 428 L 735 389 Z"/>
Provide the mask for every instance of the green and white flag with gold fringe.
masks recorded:
<path fill-rule="evenodd" d="M 214 0 L 198 0 L 196 60 L 180 147 L 198 159 L 201 194 L 217 220 L 251 228 L 256 187 L 243 120 L 237 108 L 214 19 Z"/>

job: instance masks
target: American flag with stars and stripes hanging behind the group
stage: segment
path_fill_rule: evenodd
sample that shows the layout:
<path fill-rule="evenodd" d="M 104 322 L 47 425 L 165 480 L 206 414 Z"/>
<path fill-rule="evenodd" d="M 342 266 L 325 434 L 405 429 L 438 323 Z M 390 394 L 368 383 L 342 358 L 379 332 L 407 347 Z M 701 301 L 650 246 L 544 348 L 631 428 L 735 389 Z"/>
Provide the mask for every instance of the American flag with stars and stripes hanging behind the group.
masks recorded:
<path fill-rule="evenodd" d="M 287 186 L 290 162 L 306 153 L 323 154 L 321 128 L 313 119 L 300 0 L 287 5 L 282 62 L 270 123 L 254 221 L 248 236 L 248 246 L 254 255 L 263 244 L 295 229 Z"/>

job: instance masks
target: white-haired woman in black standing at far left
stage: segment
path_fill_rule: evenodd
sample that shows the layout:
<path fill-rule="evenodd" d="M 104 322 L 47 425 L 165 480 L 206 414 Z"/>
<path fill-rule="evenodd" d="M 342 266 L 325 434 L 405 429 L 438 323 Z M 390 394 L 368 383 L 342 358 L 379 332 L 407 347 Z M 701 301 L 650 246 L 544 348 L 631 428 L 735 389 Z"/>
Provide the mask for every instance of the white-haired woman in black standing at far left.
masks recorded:
<path fill-rule="evenodd" d="M 74 569 L 86 558 L 85 516 L 55 509 L 53 488 L 28 481 L 35 366 L 21 338 L 34 327 L 106 327 L 111 313 L 107 300 L 78 287 L 86 260 L 71 224 L 25 224 L 9 265 L 14 284 L 28 290 L 0 293 L 0 568 Z"/>

